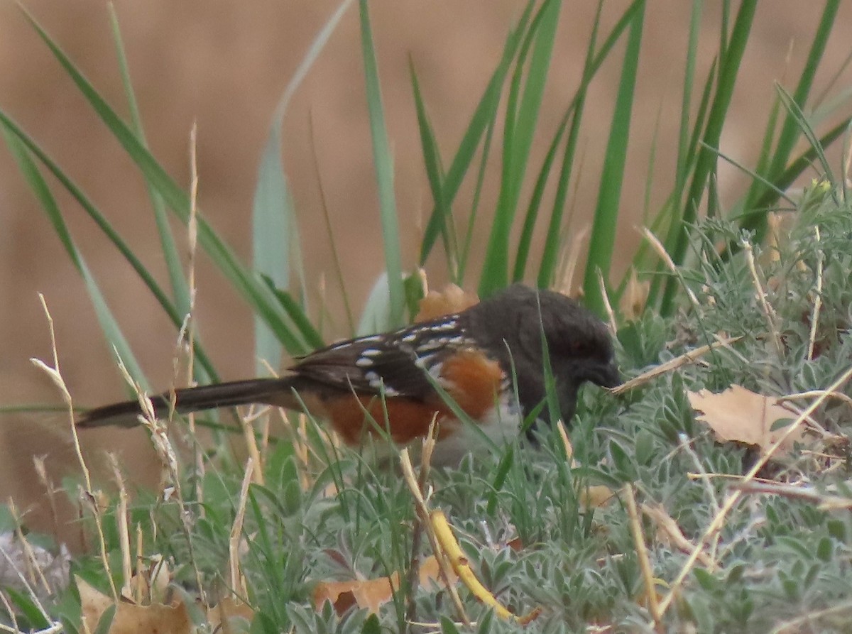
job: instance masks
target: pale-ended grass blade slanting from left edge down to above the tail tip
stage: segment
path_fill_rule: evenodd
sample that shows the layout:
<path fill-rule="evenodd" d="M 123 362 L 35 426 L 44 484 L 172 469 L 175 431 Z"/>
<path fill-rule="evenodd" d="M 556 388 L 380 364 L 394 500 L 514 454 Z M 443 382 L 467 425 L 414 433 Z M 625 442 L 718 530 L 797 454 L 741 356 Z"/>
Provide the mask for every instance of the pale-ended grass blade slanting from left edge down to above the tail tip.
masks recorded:
<path fill-rule="evenodd" d="M 101 326 L 101 331 L 104 333 L 104 337 L 107 337 L 107 343 L 115 350 L 118 358 L 127 367 L 130 377 L 136 383 L 139 383 L 143 389 L 147 389 L 145 373 L 142 372 L 141 366 L 136 361 L 135 354 L 130 349 L 127 339 L 124 338 L 124 333 L 121 331 L 121 327 L 118 326 L 118 321 L 116 321 L 115 316 L 112 314 L 109 306 L 107 306 L 107 301 L 101 293 L 101 288 L 97 285 L 94 276 L 89 271 L 89 267 L 86 265 L 85 260 L 83 260 L 83 255 L 78 251 L 77 246 L 74 245 L 71 232 L 68 230 L 65 219 L 62 217 L 59 205 L 56 204 L 53 193 L 50 192 L 50 188 L 47 182 L 45 182 L 41 171 L 38 170 L 35 162 L 32 160 L 26 144 L 5 127 L 3 128 L 3 136 L 15 162 L 20 168 L 21 174 L 32 189 L 32 192 L 36 194 L 36 198 L 47 214 L 50 224 L 53 225 L 56 235 L 65 247 L 68 256 L 71 257 L 74 268 L 77 268 L 78 273 L 83 278 L 86 291 L 89 293 L 89 300 L 95 308 L 95 315 Z"/>

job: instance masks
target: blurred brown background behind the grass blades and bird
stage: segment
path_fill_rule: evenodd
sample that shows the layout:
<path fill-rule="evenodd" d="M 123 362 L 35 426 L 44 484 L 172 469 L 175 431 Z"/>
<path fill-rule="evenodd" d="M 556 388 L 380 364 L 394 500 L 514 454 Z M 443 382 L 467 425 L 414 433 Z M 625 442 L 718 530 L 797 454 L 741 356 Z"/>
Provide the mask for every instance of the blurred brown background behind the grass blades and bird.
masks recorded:
<path fill-rule="evenodd" d="M 118 112 L 126 114 L 105 3 L 26 0 L 25 5 Z M 607 3 L 605 24 L 611 26 L 618 17 L 616 13 L 625 6 L 626 3 Z M 178 182 L 187 183 L 188 135 L 193 122 L 198 124 L 199 205 L 214 228 L 248 261 L 256 170 L 273 109 L 337 2 L 121 0 L 116 8 L 153 153 Z M 543 142 L 576 89 L 595 8 L 595 2 L 577 0 L 567 2 L 562 11 L 544 95 L 540 126 L 543 133 L 531 171 L 538 169 Z M 628 182 L 622 195 L 619 226 L 619 248 L 625 254 L 636 245 L 636 224 L 641 221 L 655 134 L 652 210 L 671 187 L 688 9 L 689 3 L 681 0 L 661 0 L 649 3 L 646 14 Z M 416 261 L 423 217 L 429 213 L 431 202 L 408 78 L 409 55 L 417 66 L 447 163 L 520 10 L 521 3 L 511 0 L 371 3 L 408 266 Z M 723 151 L 746 165 L 757 155 L 773 84 L 780 81 L 787 89 L 794 88 L 794 80 L 785 78 L 797 78 L 801 72 L 820 10 L 821 7 L 796 0 L 761 3 L 758 8 L 732 114 L 722 136 Z M 704 55 L 699 60 L 698 75 L 702 78 L 717 46 L 719 19 L 713 7 L 704 17 Z M 815 95 L 820 94 L 849 55 L 849 32 L 852 6 L 844 3 Z M 619 57 L 620 53 L 613 56 L 590 91 L 581 141 L 583 170 L 576 193 L 572 193 L 578 210 L 576 227 L 583 226 L 596 199 L 600 161 L 619 79 Z M 839 85 L 849 85 L 849 73 L 842 76 Z M 12 3 L 0 5 L 0 107 L 43 144 L 130 241 L 143 262 L 167 284 L 158 258 L 158 239 L 147 193 L 134 166 Z M 309 120 L 313 120 L 313 141 L 308 132 Z M 329 295 L 334 295 L 337 285 L 331 277 L 331 251 L 321 222 L 312 143 L 337 232 L 348 291 L 360 309 L 383 267 L 383 255 L 378 246 L 381 235 L 357 4 L 302 84 L 284 126 L 283 156 L 300 217 L 309 281 L 315 284 L 319 275 L 325 274 Z M 494 160 L 491 183 L 497 169 L 498 161 Z M 724 200 L 731 202 L 746 181 L 729 167 L 722 168 L 720 176 Z M 151 382 L 166 387 L 171 380 L 176 340 L 170 323 L 89 218 L 59 187 L 54 191 Z M 491 209 L 495 195 L 490 190 L 486 193 L 483 214 Z M 459 203 L 459 209 L 463 208 L 463 202 Z M 373 245 L 375 251 L 371 250 Z M 437 262 L 440 257 L 433 259 Z M 439 266 L 429 270 L 429 274 L 434 284 L 440 283 Z M 474 266 L 469 275 L 471 287 L 475 286 L 477 275 L 478 268 Z M 250 313 L 203 257 L 198 286 L 199 327 L 222 376 L 239 378 L 249 374 L 254 368 Z M 54 316 L 62 372 L 78 403 L 96 404 L 123 397 L 112 354 L 101 337 L 83 284 L 8 151 L 2 147 L 3 405 L 60 402 L 48 379 L 29 362 L 32 356 L 48 360 L 50 354 L 37 291 L 44 293 Z M 343 320 L 338 319 L 337 323 L 341 326 L 337 335 L 344 334 Z M 147 447 L 141 432 L 107 430 L 87 434 L 84 441 L 93 457 L 100 455 L 97 447 L 120 449 L 125 464 L 135 475 L 146 472 L 150 455 L 147 449 L 141 449 Z M 132 452 L 127 450 L 128 442 L 133 443 Z M 33 478 L 32 455 L 48 454 L 55 478 L 72 468 L 66 419 L 59 414 L 3 416 L 0 452 L 0 496 L 14 495 L 24 503 L 37 502 L 41 487 Z M 148 470 L 147 480 L 153 477 Z M 33 516 L 35 520 L 37 517 Z"/>

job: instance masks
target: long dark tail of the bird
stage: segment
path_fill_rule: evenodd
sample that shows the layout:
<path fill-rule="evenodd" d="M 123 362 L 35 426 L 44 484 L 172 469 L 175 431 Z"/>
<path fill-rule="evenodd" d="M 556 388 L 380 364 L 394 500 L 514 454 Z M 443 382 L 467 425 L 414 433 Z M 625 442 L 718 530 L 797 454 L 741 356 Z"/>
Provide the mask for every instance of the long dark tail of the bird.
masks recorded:
<path fill-rule="evenodd" d="M 185 414 L 217 407 L 231 407 L 258 403 L 283 407 L 298 407 L 292 394 L 292 378 L 250 378 L 245 381 L 200 385 L 197 388 L 175 390 L 175 412 Z M 167 418 L 170 410 L 171 393 L 164 392 L 151 397 L 157 418 Z M 139 424 L 141 408 L 138 401 L 124 401 L 96 407 L 83 413 L 77 420 L 78 427 L 101 427 L 118 425 L 134 427 Z"/>

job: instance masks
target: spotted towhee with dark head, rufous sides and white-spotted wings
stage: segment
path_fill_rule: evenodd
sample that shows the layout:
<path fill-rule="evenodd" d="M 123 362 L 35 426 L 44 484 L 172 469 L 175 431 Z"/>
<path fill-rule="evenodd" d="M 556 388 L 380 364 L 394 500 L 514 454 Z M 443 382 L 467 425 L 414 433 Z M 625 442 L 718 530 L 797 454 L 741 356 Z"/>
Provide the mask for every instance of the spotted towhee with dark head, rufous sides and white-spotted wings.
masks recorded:
<path fill-rule="evenodd" d="M 561 418 L 573 416 L 579 386 L 619 383 L 606 326 L 572 299 L 513 285 L 455 314 L 316 350 L 282 378 L 256 378 L 175 390 L 175 411 L 262 403 L 324 418 L 350 445 L 386 429 L 400 445 L 439 424 L 437 463 L 452 464 L 481 440 L 464 412 L 494 441 L 516 435 L 545 397 L 544 349 Z M 170 393 L 154 396 L 158 417 Z M 447 401 L 453 401 L 453 408 Z M 543 415 L 547 408 L 539 409 Z M 138 424 L 136 401 L 91 410 L 78 426 Z"/>

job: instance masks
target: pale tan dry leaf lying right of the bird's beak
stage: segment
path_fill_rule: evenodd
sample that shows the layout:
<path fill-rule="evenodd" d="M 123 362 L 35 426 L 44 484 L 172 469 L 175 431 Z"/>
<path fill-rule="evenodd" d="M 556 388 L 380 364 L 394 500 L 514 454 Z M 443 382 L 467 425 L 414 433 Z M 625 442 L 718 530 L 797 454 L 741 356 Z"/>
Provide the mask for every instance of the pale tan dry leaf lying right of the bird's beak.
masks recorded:
<path fill-rule="evenodd" d="M 687 396 L 689 405 L 701 412 L 699 421 L 710 425 L 720 441 L 745 442 L 758 447 L 762 454 L 786 434 L 786 427 L 773 430 L 774 424 L 782 418 L 797 418 L 776 397 L 756 394 L 741 385 L 733 385 L 719 394 L 701 389 L 687 392 Z M 779 450 L 790 453 L 794 443 L 803 441 L 804 430 L 800 427 L 786 437 Z"/>

